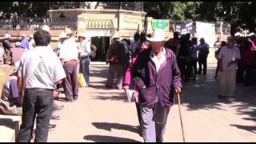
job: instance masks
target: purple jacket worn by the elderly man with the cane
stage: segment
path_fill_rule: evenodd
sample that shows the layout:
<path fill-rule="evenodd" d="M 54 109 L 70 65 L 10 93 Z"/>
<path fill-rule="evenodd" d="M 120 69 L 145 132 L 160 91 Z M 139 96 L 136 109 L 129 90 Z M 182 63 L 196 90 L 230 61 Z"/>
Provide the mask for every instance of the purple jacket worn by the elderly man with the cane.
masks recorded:
<path fill-rule="evenodd" d="M 156 93 L 162 107 L 174 103 L 174 87 L 182 87 L 180 70 L 175 54 L 166 49 L 166 62 L 160 67 L 158 74 L 154 62 L 150 58 L 151 48 L 138 55 L 132 68 L 135 89 L 139 92 L 138 102 L 142 106 L 154 107 Z M 143 88 L 146 86 L 146 88 Z"/>

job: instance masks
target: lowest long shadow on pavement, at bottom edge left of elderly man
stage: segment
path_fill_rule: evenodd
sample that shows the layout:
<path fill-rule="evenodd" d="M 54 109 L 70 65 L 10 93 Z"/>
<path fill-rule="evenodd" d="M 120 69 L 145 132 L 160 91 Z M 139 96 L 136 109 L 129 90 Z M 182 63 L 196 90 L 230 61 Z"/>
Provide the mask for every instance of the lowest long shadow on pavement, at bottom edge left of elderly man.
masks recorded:
<path fill-rule="evenodd" d="M 102 135 L 86 135 L 83 138 L 93 142 L 138 142 L 130 138 L 118 138 L 118 137 L 102 136 Z"/>

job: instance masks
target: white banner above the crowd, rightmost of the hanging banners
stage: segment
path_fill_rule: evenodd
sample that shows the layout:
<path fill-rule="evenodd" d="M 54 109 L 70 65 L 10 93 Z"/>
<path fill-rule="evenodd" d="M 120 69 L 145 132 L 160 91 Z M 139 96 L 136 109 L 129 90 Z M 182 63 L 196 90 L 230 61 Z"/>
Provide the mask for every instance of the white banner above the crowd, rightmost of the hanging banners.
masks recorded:
<path fill-rule="evenodd" d="M 199 39 L 204 38 L 210 47 L 214 47 L 214 42 L 217 40 L 214 23 L 196 22 L 196 31 L 198 44 L 200 43 Z"/>

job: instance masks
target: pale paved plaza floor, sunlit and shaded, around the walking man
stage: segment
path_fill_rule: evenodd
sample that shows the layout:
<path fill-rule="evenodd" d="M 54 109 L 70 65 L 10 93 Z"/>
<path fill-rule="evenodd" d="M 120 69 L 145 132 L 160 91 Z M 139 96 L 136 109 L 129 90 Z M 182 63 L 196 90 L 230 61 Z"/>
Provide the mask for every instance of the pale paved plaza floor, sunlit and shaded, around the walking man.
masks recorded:
<path fill-rule="evenodd" d="M 231 101 L 219 100 L 214 65 L 206 76 L 185 83 L 182 119 L 186 142 L 256 142 L 256 87 L 238 83 Z M 105 88 L 107 65 L 90 65 L 90 87 L 80 88 L 77 102 L 62 102 L 51 120 L 48 142 L 143 142 L 138 134 L 134 102 L 127 102 L 123 90 Z M 60 97 L 64 98 L 61 94 Z M 177 99 L 177 97 L 176 97 Z M 170 110 L 165 142 L 182 142 L 177 100 Z"/>

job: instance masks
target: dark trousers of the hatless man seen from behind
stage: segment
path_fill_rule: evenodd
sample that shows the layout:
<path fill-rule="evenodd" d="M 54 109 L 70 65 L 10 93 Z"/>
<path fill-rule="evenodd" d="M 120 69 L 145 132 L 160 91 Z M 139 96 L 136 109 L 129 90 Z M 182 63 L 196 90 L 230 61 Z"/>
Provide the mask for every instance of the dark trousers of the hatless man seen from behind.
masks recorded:
<path fill-rule="evenodd" d="M 26 89 L 22 103 L 22 125 L 18 142 L 30 142 L 34 119 L 37 116 L 37 130 L 34 142 L 47 142 L 54 90 Z"/>

